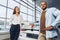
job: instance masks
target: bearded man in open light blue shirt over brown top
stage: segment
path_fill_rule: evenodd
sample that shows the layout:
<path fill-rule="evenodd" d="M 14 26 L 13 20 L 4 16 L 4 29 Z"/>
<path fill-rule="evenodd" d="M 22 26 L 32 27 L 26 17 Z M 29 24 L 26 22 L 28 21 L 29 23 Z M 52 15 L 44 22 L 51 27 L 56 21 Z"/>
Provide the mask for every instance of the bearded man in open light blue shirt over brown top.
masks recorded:
<path fill-rule="evenodd" d="M 58 36 L 56 25 L 60 23 L 60 11 L 57 8 L 47 8 L 47 3 L 41 2 L 40 34 L 38 40 L 56 40 Z"/>

